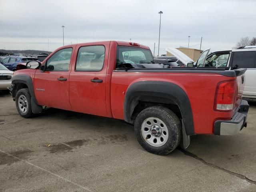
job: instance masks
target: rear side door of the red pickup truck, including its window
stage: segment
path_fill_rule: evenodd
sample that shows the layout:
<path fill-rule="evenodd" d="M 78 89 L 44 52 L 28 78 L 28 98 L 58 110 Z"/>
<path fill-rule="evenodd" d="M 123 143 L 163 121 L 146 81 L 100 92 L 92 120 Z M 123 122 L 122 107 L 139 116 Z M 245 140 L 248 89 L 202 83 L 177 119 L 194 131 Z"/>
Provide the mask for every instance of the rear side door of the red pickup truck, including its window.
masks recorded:
<path fill-rule="evenodd" d="M 106 72 L 110 42 L 76 47 L 70 72 L 69 95 L 72 110 L 98 116 L 106 111 Z"/>

